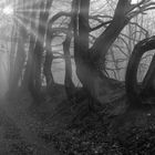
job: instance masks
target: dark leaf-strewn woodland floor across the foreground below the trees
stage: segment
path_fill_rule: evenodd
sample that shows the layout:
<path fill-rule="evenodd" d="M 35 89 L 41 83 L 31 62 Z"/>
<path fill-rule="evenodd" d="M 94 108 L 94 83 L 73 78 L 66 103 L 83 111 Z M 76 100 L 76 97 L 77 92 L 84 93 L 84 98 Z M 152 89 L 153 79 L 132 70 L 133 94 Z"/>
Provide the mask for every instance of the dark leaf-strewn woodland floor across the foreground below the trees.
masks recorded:
<path fill-rule="evenodd" d="M 154 107 L 103 118 L 76 114 L 60 93 L 40 105 L 29 94 L 1 99 L 0 155 L 155 154 Z"/>

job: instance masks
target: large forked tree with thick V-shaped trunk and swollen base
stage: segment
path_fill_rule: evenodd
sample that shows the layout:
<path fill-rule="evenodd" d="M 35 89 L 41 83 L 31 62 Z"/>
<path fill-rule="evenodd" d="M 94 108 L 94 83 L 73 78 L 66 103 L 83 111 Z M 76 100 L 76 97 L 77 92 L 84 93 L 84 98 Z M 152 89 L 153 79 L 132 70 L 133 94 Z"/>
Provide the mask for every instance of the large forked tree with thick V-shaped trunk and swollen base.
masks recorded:
<path fill-rule="evenodd" d="M 86 18 L 84 18 L 84 16 L 87 17 L 89 14 L 89 0 L 84 2 L 81 1 L 81 4 L 76 3 L 74 9 L 74 52 L 76 73 L 83 86 L 99 103 L 103 104 L 121 97 L 122 92 L 124 92 L 120 82 L 106 78 L 100 71 L 99 65 L 101 64 L 99 63 L 102 61 L 103 65 L 105 65 L 105 55 L 110 46 L 128 22 L 124 11 L 126 0 L 118 1 L 112 23 L 99 37 L 99 39 L 96 39 L 93 46 L 86 50 L 85 44 L 87 44 L 89 34 L 85 30 L 89 29 L 89 21 L 85 20 Z M 80 16 L 78 13 L 78 8 L 80 8 Z M 84 13 L 82 12 L 83 10 Z"/>

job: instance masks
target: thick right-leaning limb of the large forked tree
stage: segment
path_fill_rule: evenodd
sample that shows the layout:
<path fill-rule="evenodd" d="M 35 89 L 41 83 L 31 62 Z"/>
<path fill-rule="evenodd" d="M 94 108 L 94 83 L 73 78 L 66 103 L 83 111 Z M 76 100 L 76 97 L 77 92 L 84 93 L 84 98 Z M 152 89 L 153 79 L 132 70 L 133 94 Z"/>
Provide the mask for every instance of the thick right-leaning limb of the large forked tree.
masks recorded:
<path fill-rule="evenodd" d="M 96 39 L 93 46 L 91 48 L 91 59 L 94 65 L 97 68 L 101 62 L 105 61 L 105 55 L 113 44 L 115 39 L 118 37 L 123 28 L 128 23 L 126 18 L 126 8 L 128 6 L 128 0 L 120 0 L 114 13 L 114 18 L 111 24 L 105 29 L 105 31 Z M 121 20 L 120 20 L 121 19 Z"/>

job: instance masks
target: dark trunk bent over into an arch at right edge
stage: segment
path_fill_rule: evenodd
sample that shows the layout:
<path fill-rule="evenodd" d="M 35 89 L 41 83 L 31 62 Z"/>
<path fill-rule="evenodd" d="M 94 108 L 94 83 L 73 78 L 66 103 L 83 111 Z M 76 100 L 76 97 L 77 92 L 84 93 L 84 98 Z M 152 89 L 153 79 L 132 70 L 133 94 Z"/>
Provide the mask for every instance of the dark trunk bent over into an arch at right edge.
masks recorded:
<path fill-rule="evenodd" d="M 137 68 L 141 58 L 145 52 L 154 49 L 155 37 L 145 39 L 135 45 L 130 59 L 125 76 L 125 86 L 132 106 L 140 106 L 142 103 L 147 103 L 146 100 L 154 96 L 155 56 L 151 62 L 149 69 L 142 84 L 140 85 L 140 83 L 137 83 Z"/>

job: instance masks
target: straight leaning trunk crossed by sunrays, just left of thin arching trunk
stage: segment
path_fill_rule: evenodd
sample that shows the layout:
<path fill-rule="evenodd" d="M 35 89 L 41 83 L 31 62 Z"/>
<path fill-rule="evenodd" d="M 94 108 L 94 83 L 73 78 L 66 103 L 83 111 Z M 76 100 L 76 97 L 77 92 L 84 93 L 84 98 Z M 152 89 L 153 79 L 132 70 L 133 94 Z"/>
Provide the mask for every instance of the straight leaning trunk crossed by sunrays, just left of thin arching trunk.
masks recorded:
<path fill-rule="evenodd" d="M 38 38 L 34 46 L 34 90 L 38 101 L 42 101 L 42 65 L 43 65 L 43 52 L 44 52 L 44 41 L 46 34 L 46 24 L 49 19 L 49 10 L 52 1 L 42 1 L 40 3 L 40 14 L 39 14 L 39 28 Z M 44 24 L 46 23 L 46 24 Z"/>

